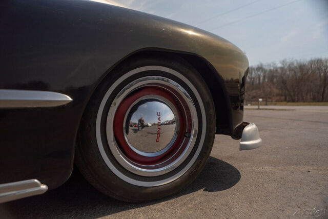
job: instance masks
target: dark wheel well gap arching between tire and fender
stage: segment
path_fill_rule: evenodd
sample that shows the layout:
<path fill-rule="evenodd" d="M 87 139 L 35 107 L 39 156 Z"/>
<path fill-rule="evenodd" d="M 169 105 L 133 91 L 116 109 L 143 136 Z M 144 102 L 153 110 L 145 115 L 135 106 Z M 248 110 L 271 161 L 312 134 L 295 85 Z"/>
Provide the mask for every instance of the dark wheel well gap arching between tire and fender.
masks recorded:
<path fill-rule="evenodd" d="M 130 58 L 135 58 L 138 56 L 144 55 L 166 55 L 166 56 L 179 56 L 180 58 L 185 59 L 190 65 L 192 65 L 202 76 L 208 88 L 211 92 L 214 107 L 216 112 L 216 134 L 227 134 L 231 135 L 231 110 L 229 108 L 229 96 L 227 94 L 226 88 L 224 86 L 224 81 L 220 77 L 220 75 L 216 72 L 214 67 L 204 58 L 190 53 L 183 53 L 179 51 L 167 51 L 167 50 L 159 50 L 159 49 L 146 49 L 136 51 L 124 58 L 122 58 L 115 66 L 115 68 L 120 63 L 126 61 Z"/>

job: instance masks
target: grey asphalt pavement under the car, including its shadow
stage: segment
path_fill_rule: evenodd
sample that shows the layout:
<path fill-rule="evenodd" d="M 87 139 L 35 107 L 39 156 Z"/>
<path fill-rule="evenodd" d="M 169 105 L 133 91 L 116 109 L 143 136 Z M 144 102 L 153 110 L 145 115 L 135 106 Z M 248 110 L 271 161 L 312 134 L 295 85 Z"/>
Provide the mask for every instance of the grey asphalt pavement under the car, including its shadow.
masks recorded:
<path fill-rule="evenodd" d="M 262 147 L 239 151 L 239 141 L 216 135 L 201 174 L 174 196 L 120 202 L 74 171 L 55 190 L 0 205 L 0 217 L 328 218 L 328 107 L 266 108 L 244 116 L 258 125 Z"/>

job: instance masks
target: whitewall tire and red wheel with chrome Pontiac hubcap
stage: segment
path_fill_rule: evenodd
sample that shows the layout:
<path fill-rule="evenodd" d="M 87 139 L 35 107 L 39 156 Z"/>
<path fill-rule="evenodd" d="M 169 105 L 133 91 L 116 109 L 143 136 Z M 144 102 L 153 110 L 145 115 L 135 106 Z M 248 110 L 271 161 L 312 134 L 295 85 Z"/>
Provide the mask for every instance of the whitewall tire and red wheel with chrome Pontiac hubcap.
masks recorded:
<path fill-rule="evenodd" d="M 91 97 L 75 162 L 92 185 L 119 200 L 169 196 L 203 168 L 215 121 L 211 93 L 184 59 L 128 59 Z"/>

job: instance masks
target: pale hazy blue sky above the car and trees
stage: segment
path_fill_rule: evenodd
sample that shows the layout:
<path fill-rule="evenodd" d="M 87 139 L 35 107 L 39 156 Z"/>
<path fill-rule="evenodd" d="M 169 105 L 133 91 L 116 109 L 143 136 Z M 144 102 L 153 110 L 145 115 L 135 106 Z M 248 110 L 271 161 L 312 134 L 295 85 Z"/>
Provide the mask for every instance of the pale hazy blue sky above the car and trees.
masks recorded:
<path fill-rule="evenodd" d="M 96 0 L 207 30 L 250 65 L 328 57 L 328 0 Z"/>

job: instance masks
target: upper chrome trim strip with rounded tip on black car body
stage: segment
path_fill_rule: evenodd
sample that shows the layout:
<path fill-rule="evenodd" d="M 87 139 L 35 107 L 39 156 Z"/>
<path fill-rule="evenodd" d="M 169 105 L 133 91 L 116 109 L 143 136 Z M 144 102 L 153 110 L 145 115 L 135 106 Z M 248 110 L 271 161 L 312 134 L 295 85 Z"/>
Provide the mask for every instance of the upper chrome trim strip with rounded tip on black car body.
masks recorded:
<path fill-rule="evenodd" d="M 68 95 L 57 92 L 0 89 L 0 108 L 56 107 L 71 101 Z"/>

